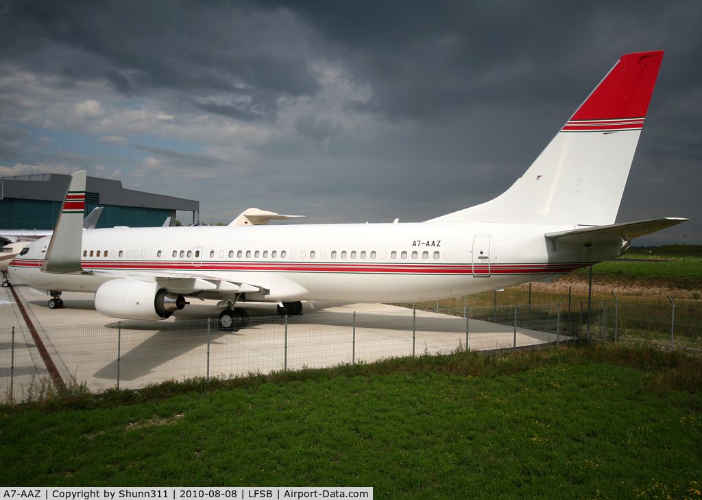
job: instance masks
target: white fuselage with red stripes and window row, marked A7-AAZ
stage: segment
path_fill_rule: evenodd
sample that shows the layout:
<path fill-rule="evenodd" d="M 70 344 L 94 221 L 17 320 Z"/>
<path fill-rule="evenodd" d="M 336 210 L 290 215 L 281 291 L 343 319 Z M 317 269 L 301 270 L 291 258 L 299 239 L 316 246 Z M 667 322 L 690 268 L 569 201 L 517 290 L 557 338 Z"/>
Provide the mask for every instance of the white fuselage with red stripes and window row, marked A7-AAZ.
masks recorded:
<path fill-rule="evenodd" d="M 569 229 L 486 223 L 97 229 L 84 232 L 81 265 L 119 270 L 122 278 L 192 274 L 273 291 L 248 300 L 422 301 L 550 279 L 619 255 L 621 244 L 554 244 L 544 237 Z M 57 291 L 96 291 L 114 279 L 41 272 L 48 244 L 49 238 L 34 242 L 11 263 L 11 275 Z"/>

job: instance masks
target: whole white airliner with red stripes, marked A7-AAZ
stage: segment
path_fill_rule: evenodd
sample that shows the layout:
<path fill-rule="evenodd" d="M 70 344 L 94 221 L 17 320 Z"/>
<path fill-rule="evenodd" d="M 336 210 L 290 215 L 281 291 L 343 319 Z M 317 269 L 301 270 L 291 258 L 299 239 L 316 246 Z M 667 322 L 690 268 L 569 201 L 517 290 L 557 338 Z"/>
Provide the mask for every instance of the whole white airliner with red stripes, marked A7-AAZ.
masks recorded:
<path fill-rule="evenodd" d="M 60 291 L 94 291 L 95 308 L 116 318 L 158 320 L 186 298 L 216 299 L 223 329 L 246 326 L 237 305 L 247 301 L 299 314 L 302 301 L 425 301 L 554 279 L 688 220 L 614 223 L 662 58 L 624 55 L 512 187 L 468 209 L 423 223 L 82 232 L 80 171 L 51 241 L 10 271 L 54 305 Z"/>

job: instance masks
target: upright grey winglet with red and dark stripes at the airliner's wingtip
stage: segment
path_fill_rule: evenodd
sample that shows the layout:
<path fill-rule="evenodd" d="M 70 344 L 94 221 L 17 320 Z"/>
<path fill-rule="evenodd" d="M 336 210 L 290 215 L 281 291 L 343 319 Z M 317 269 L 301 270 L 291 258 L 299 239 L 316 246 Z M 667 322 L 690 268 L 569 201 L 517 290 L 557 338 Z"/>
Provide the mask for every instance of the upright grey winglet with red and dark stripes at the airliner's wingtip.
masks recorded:
<path fill-rule="evenodd" d="M 82 272 L 83 213 L 86 199 L 86 171 L 73 173 L 66 199 L 51 235 L 44 263 L 44 272 Z"/>

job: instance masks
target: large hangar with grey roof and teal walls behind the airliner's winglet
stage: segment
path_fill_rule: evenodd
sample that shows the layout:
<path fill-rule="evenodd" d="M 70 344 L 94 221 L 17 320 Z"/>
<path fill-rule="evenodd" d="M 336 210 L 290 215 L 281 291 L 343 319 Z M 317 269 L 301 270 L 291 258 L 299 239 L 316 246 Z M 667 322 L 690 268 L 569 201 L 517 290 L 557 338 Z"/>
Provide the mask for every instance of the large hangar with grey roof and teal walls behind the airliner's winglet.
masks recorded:
<path fill-rule="evenodd" d="M 53 230 L 70 180 L 71 176 L 62 173 L 1 177 L 0 228 Z M 85 215 L 96 206 L 104 207 L 98 228 L 160 226 L 166 217 L 176 225 L 178 210 L 192 212 L 192 222 L 196 223 L 200 210 L 200 202 L 192 199 L 128 190 L 121 180 L 88 177 Z"/>

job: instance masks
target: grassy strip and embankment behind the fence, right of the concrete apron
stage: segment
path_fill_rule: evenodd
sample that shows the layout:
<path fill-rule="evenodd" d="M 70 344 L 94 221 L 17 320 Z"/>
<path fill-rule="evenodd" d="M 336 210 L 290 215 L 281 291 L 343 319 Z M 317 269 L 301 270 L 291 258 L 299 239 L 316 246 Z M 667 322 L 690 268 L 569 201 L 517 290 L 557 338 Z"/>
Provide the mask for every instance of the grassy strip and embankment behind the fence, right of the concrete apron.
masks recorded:
<path fill-rule="evenodd" d="M 569 289 L 571 307 L 579 316 L 581 302 L 587 311 L 589 270 L 578 270 L 551 284 L 532 283 L 531 303 L 558 303 L 567 308 Z M 614 296 L 620 301 L 618 334 L 624 340 L 650 341 L 670 346 L 672 308 L 675 301 L 675 346 L 702 352 L 702 245 L 668 245 L 636 248 L 614 261 L 592 268 L 592 308 L 602 313 L 608 302 L 608 330 L 614 331 Z M 471 308 L 529 303 L 529 284 L 504 291 L 487 291 L 468 296 Z M 411 307 L 411 304 L 402 304 Z M 417 303 L 418 308 L 435 310 L 436 301 Z M 463 298 L 439 301 L 439 310 L 463 315 Z"/>

